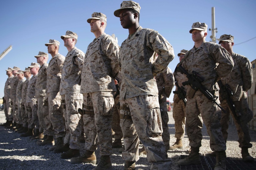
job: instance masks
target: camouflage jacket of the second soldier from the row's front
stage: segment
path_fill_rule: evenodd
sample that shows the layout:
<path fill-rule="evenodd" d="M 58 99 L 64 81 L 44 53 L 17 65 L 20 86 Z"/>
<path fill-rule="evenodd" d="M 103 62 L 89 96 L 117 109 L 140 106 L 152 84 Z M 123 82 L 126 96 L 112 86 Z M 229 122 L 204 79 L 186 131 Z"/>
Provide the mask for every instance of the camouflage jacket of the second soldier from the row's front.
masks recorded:
<path fill-rule="evenodd" d="M 80 93 L 116 91 L 119 46 L 110 35 L 101 34 L 87 48 Z"/>

